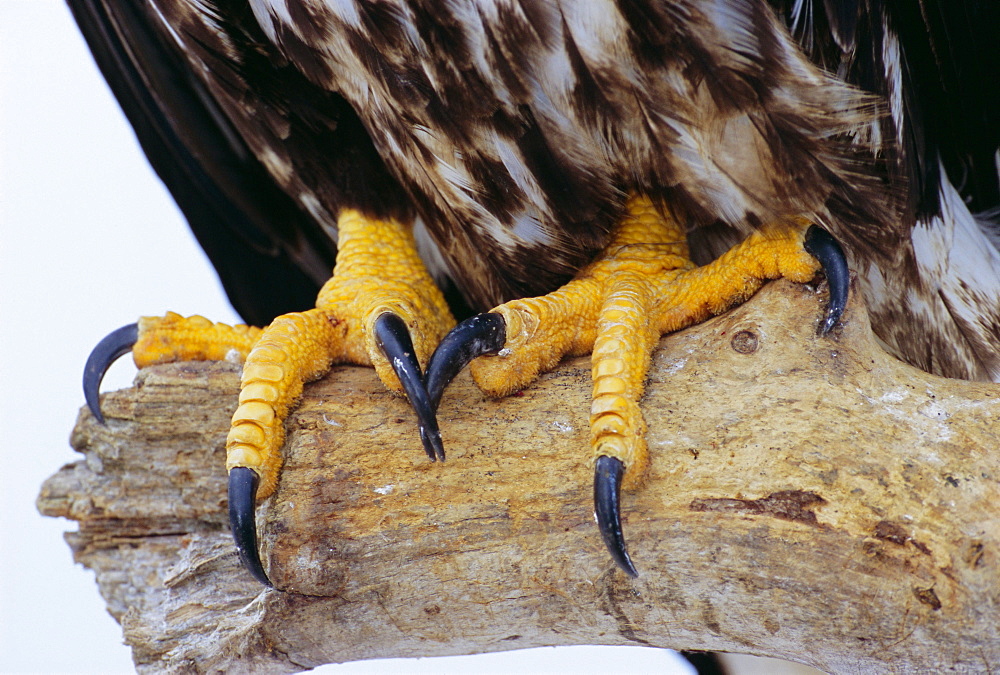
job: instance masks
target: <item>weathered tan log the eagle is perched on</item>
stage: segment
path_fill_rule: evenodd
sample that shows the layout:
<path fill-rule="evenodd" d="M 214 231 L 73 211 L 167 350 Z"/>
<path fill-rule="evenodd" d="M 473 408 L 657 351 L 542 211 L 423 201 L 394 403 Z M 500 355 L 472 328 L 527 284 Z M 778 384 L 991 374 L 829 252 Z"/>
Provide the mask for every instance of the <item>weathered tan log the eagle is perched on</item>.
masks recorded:
<path fill-rule="evenodd" d="M 830 672 L 1000 668 L 1000 388 L 885 355 L 853 303 L 774 283 L 665 338 L 644 410 L 645 489 L 623 501 L 641 576 L 591 510 L 587 359 L 522 394 L 466 375 L 440 410 L 448 461 L 406 403 L 335 368 L 288 423 L 238 564 L 224 441 L 237 368 L 178 364 L 81 413 L 83 461 L 40 509 L 97 572 L 140 670 L 293 671 L 383 656 L 640 644 L 788 658 Z"/>

